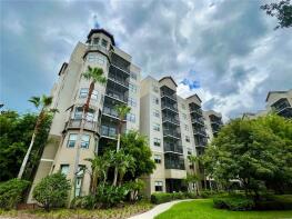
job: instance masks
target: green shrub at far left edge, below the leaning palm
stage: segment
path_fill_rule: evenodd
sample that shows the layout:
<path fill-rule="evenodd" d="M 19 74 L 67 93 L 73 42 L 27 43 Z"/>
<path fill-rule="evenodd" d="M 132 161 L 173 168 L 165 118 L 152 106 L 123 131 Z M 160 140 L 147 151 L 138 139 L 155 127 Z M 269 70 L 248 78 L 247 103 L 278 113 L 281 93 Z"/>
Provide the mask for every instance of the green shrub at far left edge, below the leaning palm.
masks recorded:
<path fill-rule="evenodd" d="M 0 208 L 11 209 L 21 201 L 23 191 L 30 182 L 21 179 L 11 179 L 0 183 Z"/>

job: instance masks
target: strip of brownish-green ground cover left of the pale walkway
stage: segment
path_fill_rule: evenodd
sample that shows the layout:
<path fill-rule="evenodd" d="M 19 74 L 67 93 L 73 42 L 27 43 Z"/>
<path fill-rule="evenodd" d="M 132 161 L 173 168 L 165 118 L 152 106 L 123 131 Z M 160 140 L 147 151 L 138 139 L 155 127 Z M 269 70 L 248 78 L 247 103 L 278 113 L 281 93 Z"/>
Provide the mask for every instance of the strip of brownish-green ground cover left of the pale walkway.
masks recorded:
<path fill-rule="evenodd" d="M 54 209 L 46 212 L 42 209 L 38 210 L 1 210 L 0 218 L 17 218 L 17 219 L 37 219 L 37 218 L 66 218 L 66 219 L 125 219 L 130 216 L 142 213 L 150 210 L 152 203 L 147 201 L 139 201 L 134 205 L 125 203 L 123 207 L 115 207 L 111 209 Z"/>

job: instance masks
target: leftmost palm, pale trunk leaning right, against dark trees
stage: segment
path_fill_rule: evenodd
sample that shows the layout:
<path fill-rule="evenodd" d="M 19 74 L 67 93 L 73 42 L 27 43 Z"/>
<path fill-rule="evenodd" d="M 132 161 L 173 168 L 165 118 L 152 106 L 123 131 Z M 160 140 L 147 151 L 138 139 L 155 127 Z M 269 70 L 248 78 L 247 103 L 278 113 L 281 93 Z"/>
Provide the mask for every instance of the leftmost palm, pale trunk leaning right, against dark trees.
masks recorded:
<path fill-rule="evenodd" d="M 49 107 L 52 103 L 52 97 L 47 97 L 44 94 L 42 97 L 31 97 L 29 99 L 29 101 L 32 102 L 38 110 L 40 110 L 40 113 L 38 116 L 37 123 L 34 126 L 34 130 L 33 130 L 33 133 L 32 133 L 32 137 L 31 137 L 31 140 L 30 140 L 29 149 L 28 149 L 28 151 L 27 151 L 27 153 L 24 156 L 24 159 L 23 159 L 23 161 L 21 163 L 21 167 L 20 167 L 20 170 L 19 170 L 19 173 L 18 173 L 18 179 L 22 178 L 22 175 L 24 172 L 26 166 L 27 166 L 28 160 L 29 160 L 29 156 L 30 156 L 31 149 L 33 147 L 33 143 L 34 143 L 34 140 L 36 140 L 36 137 L 37 137 L 37 133 L 39 132 L 39 129 L 41 127 L 41 123 L 42 123 L 43 119 L 46 118 L 48 112 L 56 112 L 56 111 L 58 111 L 57 109 L 49 109 Z"/>

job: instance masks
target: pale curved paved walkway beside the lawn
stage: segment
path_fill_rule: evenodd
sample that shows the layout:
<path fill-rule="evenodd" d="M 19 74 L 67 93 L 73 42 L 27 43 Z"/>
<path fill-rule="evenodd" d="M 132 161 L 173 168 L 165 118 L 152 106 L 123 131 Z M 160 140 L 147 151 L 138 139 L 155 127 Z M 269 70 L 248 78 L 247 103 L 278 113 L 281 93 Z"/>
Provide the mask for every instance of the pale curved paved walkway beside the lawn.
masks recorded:
<path fill-rule="evenodd" d="M 177 201 L 171 201 L 167 203 L 161 203 L 155 206 L 153 209 L 143 212 L 141 215 L 132 216 L 129 219 L 153 219 L 155 216 L 162 213 L 165 210 L 169 210 L 173 205 L 182 202 L 182 201 L 192 201 L 193 199 L 184 199 L 184 200 L 177 200 Z"/>

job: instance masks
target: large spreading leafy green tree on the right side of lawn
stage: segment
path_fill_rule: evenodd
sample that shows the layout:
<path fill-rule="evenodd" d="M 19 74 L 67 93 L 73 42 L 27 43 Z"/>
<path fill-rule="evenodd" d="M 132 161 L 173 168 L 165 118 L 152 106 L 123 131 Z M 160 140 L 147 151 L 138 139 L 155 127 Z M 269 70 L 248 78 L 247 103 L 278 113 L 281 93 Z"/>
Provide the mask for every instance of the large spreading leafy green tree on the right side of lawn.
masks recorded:
<path fill-rule="evenodd" d="M 279 190 L 292 180 L 292 122 L 275 115 L 232 120 L 208 147 L 203 162 L 208 175 L 224 187 L 232 179 L 246 193 L 266 187 Z M 279 183 L 282 183 L 279 185 Z"/>

